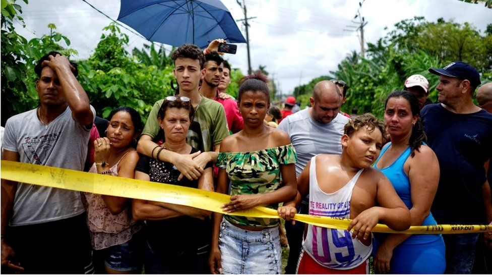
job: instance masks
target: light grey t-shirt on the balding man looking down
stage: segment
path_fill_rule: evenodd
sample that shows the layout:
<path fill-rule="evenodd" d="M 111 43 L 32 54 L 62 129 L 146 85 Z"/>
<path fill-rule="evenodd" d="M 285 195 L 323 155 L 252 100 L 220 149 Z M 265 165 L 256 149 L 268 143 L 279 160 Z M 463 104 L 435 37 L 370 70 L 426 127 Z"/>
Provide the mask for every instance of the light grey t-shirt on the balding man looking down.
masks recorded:
<path fill-rule="evenodd" d="M 304 170 L 307 162 L 317 154 L 341 154 L 343 127 L 348 118 L 338 114 L 330 123 L 322 124 L 315 121 L 309 114 L 309 109 L 286 117 L 278 128 L 290 136 L 292 145 L 297 153 L 295 174 L 297 177 Z"/>

